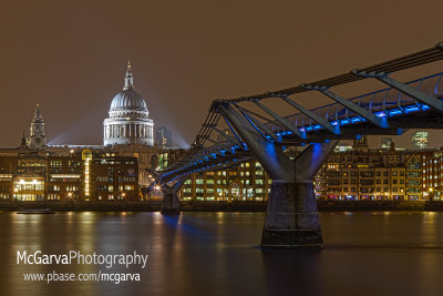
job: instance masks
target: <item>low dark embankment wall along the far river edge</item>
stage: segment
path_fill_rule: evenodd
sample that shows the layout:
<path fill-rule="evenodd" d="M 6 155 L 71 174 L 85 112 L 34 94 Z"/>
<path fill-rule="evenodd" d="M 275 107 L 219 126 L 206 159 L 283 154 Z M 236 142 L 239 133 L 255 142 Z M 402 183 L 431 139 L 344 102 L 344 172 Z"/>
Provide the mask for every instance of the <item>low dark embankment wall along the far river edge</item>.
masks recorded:
<path fill-rule="evenodd" d="M 266 212 L 266 202 L 182 202 L 183 212 Z M 150 202 L 0 202 L 0 211 L 51 208 L 58 212 L 157 212 L 162 201 Z M 443 202 L 429 201 L 319 201 L 319 212 L 342 211 L 434 211 Z"/>

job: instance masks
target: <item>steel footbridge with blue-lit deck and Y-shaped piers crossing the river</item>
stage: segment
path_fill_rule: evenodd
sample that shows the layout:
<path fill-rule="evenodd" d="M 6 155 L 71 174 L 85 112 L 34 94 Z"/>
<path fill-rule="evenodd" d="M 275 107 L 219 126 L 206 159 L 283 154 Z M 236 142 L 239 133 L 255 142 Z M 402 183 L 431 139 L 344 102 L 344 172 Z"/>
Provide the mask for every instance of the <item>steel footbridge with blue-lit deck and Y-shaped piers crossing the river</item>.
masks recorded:
<path fill-rule="evenodd" d="M 162 213 L 179 213 L 177 192 L 189 174 L 224 170 L 255 157 L 272 180 L 261 246 L 322 247 L 315 174 L 340 140 L 400 135 L 408 129 L 443 129 L 443 72 L 409 82 L 393 78 L 400 71 L 442 59 L 443 42 L 293 88 L 213 101 L 184 156 L 165 170 L 151 171 L 163 188 Z M 362 80 L 378 81 L 384 89 L 351 99 L 333 90 Z M 306 108 L 297 98 L 307 92 L 323 95 L 331 104 Z M 290 157 L 287 151 L 293 146 L 303 150 Z"/>

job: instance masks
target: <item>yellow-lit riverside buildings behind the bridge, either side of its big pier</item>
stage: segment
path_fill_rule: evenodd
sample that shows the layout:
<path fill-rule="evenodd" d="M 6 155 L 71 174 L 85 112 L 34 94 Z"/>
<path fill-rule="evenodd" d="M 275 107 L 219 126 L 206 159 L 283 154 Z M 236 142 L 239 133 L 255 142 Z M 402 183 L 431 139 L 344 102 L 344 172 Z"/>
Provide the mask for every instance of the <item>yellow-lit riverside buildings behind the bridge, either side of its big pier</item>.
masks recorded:
<path fill-rule="evenodd" d="M 367 137 L 339 145 L 317 173 L 318 200 L 442 200 L 443 150 L 371 150 Z M 297 153 L 293 155 L 293 157 Z M 181 188 L 183 201 L 266 201 L 271 180 L 256 161 L 195 173 Z"/>

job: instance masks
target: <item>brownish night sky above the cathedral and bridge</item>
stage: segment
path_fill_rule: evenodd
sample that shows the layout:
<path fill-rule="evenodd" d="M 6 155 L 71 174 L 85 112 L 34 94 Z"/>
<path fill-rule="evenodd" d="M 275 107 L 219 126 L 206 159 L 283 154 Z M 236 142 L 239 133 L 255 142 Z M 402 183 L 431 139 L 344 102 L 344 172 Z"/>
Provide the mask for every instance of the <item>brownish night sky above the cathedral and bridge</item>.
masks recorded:
<path fill-rule="evenodd" d="M 442 11 L 441 0 L 3 1 L 0 146 L 20 144 L 38 101 L 50 144 L 101 144 L 127 58 L 155 126 L 189 144 L 214 99 L 430 48 L 443 41 Z M 443 145 L 439 134 L 431 145 Z"/>

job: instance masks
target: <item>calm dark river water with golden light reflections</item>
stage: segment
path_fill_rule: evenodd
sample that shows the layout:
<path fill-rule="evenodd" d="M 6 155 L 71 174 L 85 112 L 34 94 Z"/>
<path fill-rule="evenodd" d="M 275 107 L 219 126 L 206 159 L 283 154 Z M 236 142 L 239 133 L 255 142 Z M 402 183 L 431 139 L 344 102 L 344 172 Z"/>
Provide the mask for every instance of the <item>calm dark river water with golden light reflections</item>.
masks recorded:
<path fill-rule="evenodd" d="M 261 251 L 264 213 L 0 212 L 0 295 L 443 295 L 443 213 L 321 213 L 322 251 Z M 17 251 L 148 254 L 141 282 L 30 283 L 23 273 L 110 272 L 18 265 Z"/>

